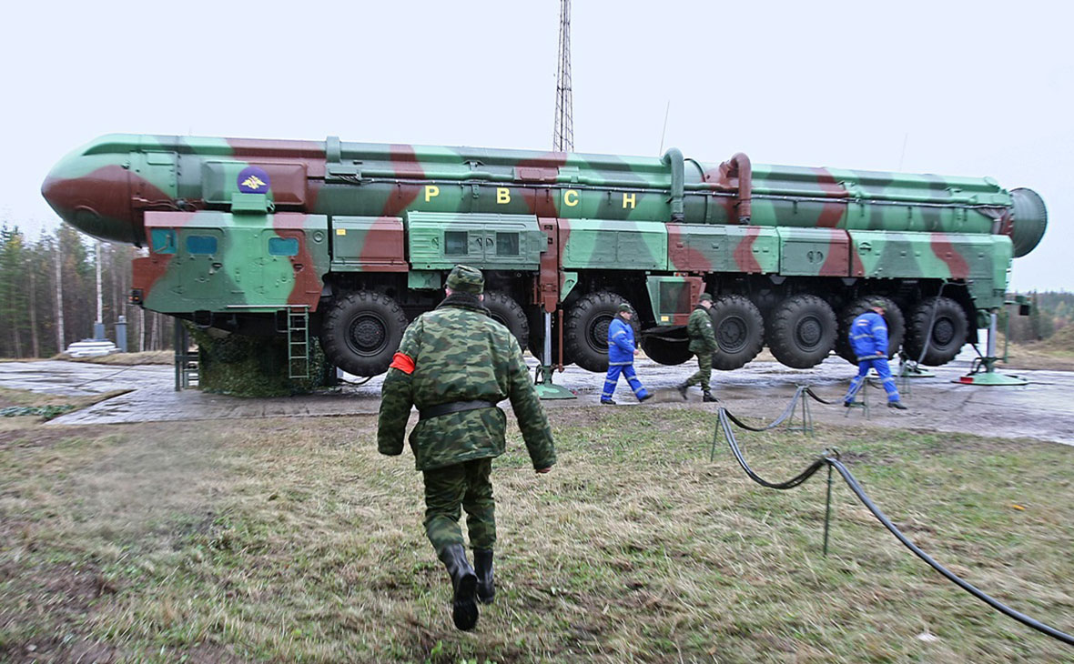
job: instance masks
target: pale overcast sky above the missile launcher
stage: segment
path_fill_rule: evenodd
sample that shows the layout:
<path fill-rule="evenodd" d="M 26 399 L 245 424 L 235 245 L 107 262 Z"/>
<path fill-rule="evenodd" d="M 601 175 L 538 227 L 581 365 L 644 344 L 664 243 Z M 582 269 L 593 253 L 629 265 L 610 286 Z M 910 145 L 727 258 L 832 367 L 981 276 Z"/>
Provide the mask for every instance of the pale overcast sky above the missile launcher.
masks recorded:
<path fill-rule="evenodd" d="M 1048 206 L 1014 287 L 1074 290 L 1064 2 L 594 2 L 575 148 L 992 176 Z M 557 0 L 17 2 L 0 39 L 0 221 L 58 223 L 52 165 L 105 133 L 549 149 Z"/>

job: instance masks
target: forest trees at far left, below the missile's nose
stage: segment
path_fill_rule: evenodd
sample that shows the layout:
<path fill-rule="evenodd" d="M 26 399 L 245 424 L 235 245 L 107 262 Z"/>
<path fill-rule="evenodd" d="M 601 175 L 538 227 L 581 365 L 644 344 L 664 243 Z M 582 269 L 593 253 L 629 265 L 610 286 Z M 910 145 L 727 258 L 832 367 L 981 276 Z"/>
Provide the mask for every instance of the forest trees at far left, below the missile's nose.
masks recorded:
<path fill-rule="evenodd" d="M 0 357 L 52 357 L 92 338 L 98 253 L 105 337 L 116 341 L 116 322 L 126 316 L 129 352 L 171 348 L 171 316 L 128 303 L 131 261 L 141 251 L 93 242 L 67 224 L 35 239 L 0 225 Z"/>

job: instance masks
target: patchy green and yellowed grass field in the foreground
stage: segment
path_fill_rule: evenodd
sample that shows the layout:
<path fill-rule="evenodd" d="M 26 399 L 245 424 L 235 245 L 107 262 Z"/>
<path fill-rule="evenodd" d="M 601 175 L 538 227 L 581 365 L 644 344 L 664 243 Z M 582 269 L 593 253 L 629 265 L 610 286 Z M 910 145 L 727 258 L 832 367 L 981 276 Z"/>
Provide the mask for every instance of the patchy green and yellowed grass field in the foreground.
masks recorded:
<path fill-rule="evenodd" d="M 900 545 L 824 473 L 750 482 L 711 412 L 550 411 L 495 462 L 496 604 L 450 624 L 409 453 L 372 418 L 0 431 L 0 660 L 1007 662 L 1072 650 Z M 927 552 L 1074 631 L 1074 448 L 882 428 L 739 437 L 784 479 L 825 447 Z M 1019 510 L 1018 507 L 1022 507 Z M 923 641 L 929 633 L 937 640 Z"/>

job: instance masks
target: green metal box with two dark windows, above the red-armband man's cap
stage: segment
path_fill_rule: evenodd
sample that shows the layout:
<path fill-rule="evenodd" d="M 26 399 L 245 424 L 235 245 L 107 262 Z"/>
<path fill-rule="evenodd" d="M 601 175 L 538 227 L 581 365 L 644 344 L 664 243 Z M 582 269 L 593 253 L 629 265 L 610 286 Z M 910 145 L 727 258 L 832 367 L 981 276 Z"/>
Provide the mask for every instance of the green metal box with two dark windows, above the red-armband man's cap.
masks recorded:
<path fill-rule="evenodd" d="M 536 270 L 548 238 L 533 215 L 407 212 L 413 269 Z"/>

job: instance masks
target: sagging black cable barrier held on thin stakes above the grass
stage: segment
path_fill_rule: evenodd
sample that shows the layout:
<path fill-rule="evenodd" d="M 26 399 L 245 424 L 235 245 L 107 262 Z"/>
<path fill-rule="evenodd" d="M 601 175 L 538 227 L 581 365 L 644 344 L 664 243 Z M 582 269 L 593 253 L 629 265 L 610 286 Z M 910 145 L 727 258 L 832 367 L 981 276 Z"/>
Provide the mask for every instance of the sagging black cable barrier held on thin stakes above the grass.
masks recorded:
<path fill-rule="evenodd" d="M 816 395 L 812 394 L 812 390 L 810 390 L 810 388 L 808 386 L 799 386 L 798 390 L 795 393 L 794 399 L 792 400 L 792 405 L 798 400 L 798 398 L 803 393 L 808 393 L 814 399 L 821 400 L 818 397 L 816 397 Z M 824 401 L 822 401 L 822 403 L 824 403 Z M 786 411 L 784 411 L 784 413 Z M 781 415 L 781 417 L 782 417 L 782 415 Z M 779 419 L 777 420 L 777 423 L 778 422 L 779 422 Z M 731 454 L 735 455 L 735 459 L 738 461 L 739 466 L 742 467 L 742 470 L 745 471 L 746 475 L 749 475 L 751 479 L 753 479 L 754 482 L 756 482 L 757 484 L 759 484 L 759 485 L 761 485 L 764 487 L 768 487 L 770 489 L 793 489 L 793 488 L 795 488 L 795 487 L 803 484 L 807 479 L 809 479 L 810 477 L 812 477 L 818 470 L 821 470 L 825 466 L 828 467 L 828 499 L 827 499 L 828 502 L 827 502 L 827 506 L 826 506 L 825 523 L 824 523 L 824 545 L 825 545 L 824 546 L 824 552 L 825 552 L 825 555 L 827 555 L 827 552 L 828 552 L 828 516 L 830 515 L 830 512 L 831 512 L 831 470 L 834 469 L 840 474 L 840 476 L 842 476 L 843 481 L 846 483 L 847 487 L 850 487 L 851 491 L 857 497 L 857 499 L 859 501 L 861 501 L 861 503 L 866 506 L 866 508 L 868 508 L 869 512 L 871 512 L 872 515 L 874 517 L 876 517 L 876 519 L 888 531 L 890 531 L 890 533 L 892 535 L 895 535 L 896 538 L 899 540 L 899 542 L 901 542 L 906 548 L 909 548 L 918 558 L 920 558 L 921 560 L 924 560 L 925 562 L 927 562 L 933 570 L 935 570 L 937 572 L 939 572 L 940 574 L 942 574 L 944 577 L 946 577 L 947 580 L 949 580 L 953 584 L 957 585 L 959 588 L 961 588 L 962 590 L 969 592 L 970 594 L 972 594 L 973 596 L 977 597 L 978 600 L 981 600 L 985 604 L 988 604 L 989 606 L 991 606 L 996 610 L 1000 611 L 1004 616 L 1007 616 L 1008 618 L 1013 618 L 1013 619 L 1017 620 L 1018 622 L 1025 624 L 1026 626 L 1032 628 L 1032 629 L 1034 629 L 1037 632 L 1041 632 L 1043 634 L 1047 634 L 1048 636 L 1050 636 L 1050 637 L 1053 637 L 1055 639 L 1058 639 L 1060 641 L 1063 641 L 1064 644 L 1066 644 L 1069 646 L 1074 646 L 1074 636 L 1071 636 L 1070 634 L 1066 634 L 1064 632 L 1060 632 L 1059 630 L 1057 630 L 1057 629 L 1055 629 L 1053 626 L 1049 626 L 1047 624 L 1044 624 L 1043 622 L 1034 620 L 1033 618 L 1030 618 L 1029 616 L 1027 616 L 1027 615 L 1025 615 L 1025 614 L 1022 614 L 1020 611 L 1017 611 L 1017 610 L 1011 608 L 1010 606 L 1003 604 L 1002 602 L 999 602 L 998 600 L 996 600 L 996 599 L 993 599 L 993 597 L 985 594 L 984 592 L 982 592 L 981 590 L 978 590 L 976 587 L 974 587 L 970 582 L 963 580 L 958 575 L 956 575 L 955 573 L 953 573 L 952 571 L 947 570 L 942 564 L 940 564 L 939 562 L 937 562 L 931 556 L 929 556 L 928 554 L 926 554 L 925 551 L 923 551 L 920 548 L 918 548 L 913 542 L 911 542 L 905 535 L 903 535 L 902 532 L 895 526 L 895 523 L 892 523 L 890 521 L 890 519 L 888 519 L 887 516 L 881 511 L 881 508 L 877 507 L 869 499 L 869 496 L 866 495 L 865 490 L 861 488 L 861 485 L 858 484 L 857 479 L 851 473 L 850 469 L 847 469 L 845 466 L 843 466 L 843 463 L 839 460 L 839 452 L 838 451 L 834 451 L 834 449 L 825 449 L 824 454 L 819 458 L 817 458 L 816 460 L 814 460 L 808 468 L 806 468 L 806 470 L 803 470 L 802 472 L 798 473 L 796 476 L 792 477 L 790 479 L 787 479 L 787 481 L 784 481 L 784 482 L 769 482 L 769 481 L 763 478 L 756 472 L 754 472 L 754 470 L 752 468 L 750 468 L 750 464 L 746 462 L 745 457 L 742 455 L 742 451 L 739 448 L 738 441 L 735 438 L 735 430 L 731 428 L 731 424 L 732 423 L 736 424 L 737 426 L 741 426 L 741 425 L 739 425 L 739 420 L 738 420 L 737 417 L 735 417 L 726 408 L 721 407 L 720 411 L 719 411 L 719 428 L 713 433 L 713 445 L 715 445 L 715 439 L 719 436 L 720 431 L 723 431 L 724 438 L 727 439 L 727 444 L 731 448 Z M 765 428 L 761 428 L 761 429 L 752 428 L 752 427 L 742 427 L 742 428 L 744 428 L 746 430 L 750 430 L 750 431 L 765 431 L 765 430 L 770 429 L 773 426 L 775 426 L 777 423 L 773 423 L 773 424 L 769 425 L 768 427 L 765 427 Z"/>

